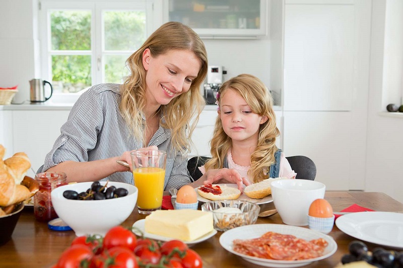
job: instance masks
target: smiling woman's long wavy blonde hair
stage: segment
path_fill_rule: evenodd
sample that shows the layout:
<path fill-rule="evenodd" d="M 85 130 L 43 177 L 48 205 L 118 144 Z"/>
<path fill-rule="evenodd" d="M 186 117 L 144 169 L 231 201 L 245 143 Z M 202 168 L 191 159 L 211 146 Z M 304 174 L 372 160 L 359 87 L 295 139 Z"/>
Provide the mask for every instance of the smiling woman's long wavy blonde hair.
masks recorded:
<path fill-rule="evenodd" d="M 150 49 L 152 57 L 165 54 L 171 50 L 190 50 L 200 59 L 201 68 L 193 79 L 189 91 L 174 98 L 169 104 L 161 105 L 165 124 L 172 133 L 173 149 L 184 152 L 190 149 L 190 137 L 197 124 L 198 116 L 205 102 L 200 93 L 200 84 L 207 74 L 207 52 L 200 37 L 189 27 L 179 22 L 168 22 L 158 28 L 135 53 L 126 60 L 130 75 L 124 80 L 121 88 L 120 113 L 129 125 L 133 135 L 143 140 L 143 109 L 146 105 L 146 70 L 142 59 L 145 49 Z M 190 120 L 194 120 L 190 123 Z M 144 144 L 147 146 L 147 144 Z"/>

